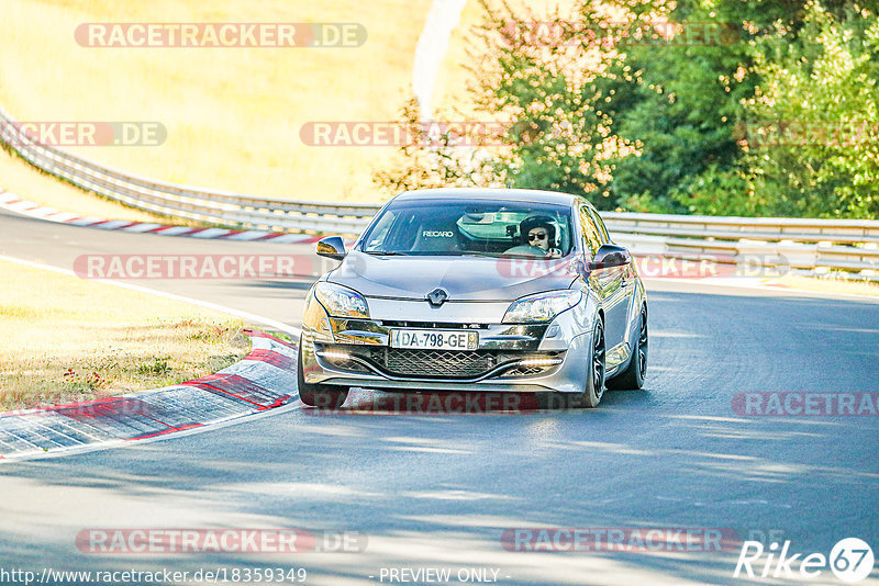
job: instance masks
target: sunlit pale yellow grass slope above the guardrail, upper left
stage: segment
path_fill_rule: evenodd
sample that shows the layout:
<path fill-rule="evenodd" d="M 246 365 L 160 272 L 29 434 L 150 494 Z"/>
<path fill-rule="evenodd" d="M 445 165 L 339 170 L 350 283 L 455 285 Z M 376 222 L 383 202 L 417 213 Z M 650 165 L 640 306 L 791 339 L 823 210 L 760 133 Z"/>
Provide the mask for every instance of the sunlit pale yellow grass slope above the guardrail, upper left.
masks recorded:
<path fill-rule="evenodd" d="M 392 148 L 310 147 L 299 129 L 309 121 L 393 120 L 411 93 L 429 7 L 3 0 L 0 104 L 19 120 L 158 121 L 168 131 L 162 146 L 76 150 L 157 179 L 285 199 L 376 200 L 371 174 Z M 86 22 L 200 21 L 357 22 L 368 40 L 358 48 L 89 48 L 74 38 Z M 38 189 L 18 189 L 38 201 Z"/>

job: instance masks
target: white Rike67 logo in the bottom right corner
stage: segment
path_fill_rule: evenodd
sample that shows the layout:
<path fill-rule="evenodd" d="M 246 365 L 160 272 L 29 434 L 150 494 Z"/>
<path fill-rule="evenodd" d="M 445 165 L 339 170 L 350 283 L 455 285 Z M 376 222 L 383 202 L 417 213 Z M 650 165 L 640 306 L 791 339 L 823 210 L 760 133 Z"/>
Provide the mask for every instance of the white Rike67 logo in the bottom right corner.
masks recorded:
<path fill-rule="evenodd" d="M 779 548 L 778 542 L 772 542 L 764 549 L 759 541 L 745 541 L 733 577 L 810 581 L 817 579 L 830 568 L 838 579 L 854 584 L 872 572 L 872 549 L 861 539 L 839 540 L 830 556 L 820 552 L 793 553 L 790 544 L 790 541 L 785 541 Z"/>

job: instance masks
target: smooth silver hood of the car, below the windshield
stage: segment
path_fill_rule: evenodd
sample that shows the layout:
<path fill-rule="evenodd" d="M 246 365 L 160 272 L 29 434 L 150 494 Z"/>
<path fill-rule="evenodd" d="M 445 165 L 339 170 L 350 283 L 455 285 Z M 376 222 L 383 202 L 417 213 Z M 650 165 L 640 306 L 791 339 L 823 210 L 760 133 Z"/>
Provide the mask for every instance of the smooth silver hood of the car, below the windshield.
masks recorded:
<path fill-rule="evenodd" d="M 513 301 L 568 289 L 578 277 L 571 258 L 377 257 L 353 250 L 327 280 L 375 297 L 423 300 L 443 288 L 448 301 Z"/>

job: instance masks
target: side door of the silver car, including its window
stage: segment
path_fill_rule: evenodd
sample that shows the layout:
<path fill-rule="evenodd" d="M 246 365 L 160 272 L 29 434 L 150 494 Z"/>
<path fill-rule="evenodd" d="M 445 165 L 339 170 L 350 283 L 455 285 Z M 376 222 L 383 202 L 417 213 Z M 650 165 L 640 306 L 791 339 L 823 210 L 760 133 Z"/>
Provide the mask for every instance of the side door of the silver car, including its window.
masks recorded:
<path fill-rule="evenodd" d="M 605 244 L 596 221 L 587 205 L 580 206 L 580 229 L 582 232 L 583 249 L 591 260 L 596 252 Z M 625 267 L 599 269 L 589 275 L 589 285 L 598 294 L 604 308 L 604 347 L 607 348 L 607 368 L 615 368 L 625 358 L 624 347 L 626 322 L 625 303 Z"/>

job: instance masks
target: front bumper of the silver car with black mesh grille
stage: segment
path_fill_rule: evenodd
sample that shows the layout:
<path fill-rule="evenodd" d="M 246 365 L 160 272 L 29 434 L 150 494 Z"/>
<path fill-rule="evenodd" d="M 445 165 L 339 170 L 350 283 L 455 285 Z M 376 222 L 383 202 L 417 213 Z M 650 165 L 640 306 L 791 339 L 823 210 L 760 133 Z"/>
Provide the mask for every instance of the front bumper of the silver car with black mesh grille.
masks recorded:
<path fill-rule="evenodd" d="M 581 393 L 589 336 L 575 312 L 552 324 L 424 323 L 330 317 L 312 295 L 302 327 L 302 369 L 308 383 L 398 391 Z M 470 351 L 390 348 L 393 328 L 479 333 Z M 588 330 L 587 330 L 588 331 Z"/>

